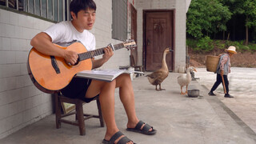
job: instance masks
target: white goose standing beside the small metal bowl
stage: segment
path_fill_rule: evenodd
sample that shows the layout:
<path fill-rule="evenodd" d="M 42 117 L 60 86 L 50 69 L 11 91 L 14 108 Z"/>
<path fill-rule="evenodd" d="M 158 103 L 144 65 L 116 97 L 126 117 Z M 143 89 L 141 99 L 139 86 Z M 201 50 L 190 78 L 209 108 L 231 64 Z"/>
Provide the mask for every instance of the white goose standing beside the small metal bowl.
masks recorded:
<path fill-rule="evenodd" d="M 194 66 L 190 66 L 187 70 L 186 70 L 186 74 L 181 74 L 178 76 L 177 80 L 178 80 L 178 84 L 179 86 L 181 86 L 181 94 L 187 94 L 187 86 L 189 86 L 190 82 L 191 82 L 191 74 L 190 71 L 197 71 L 195 70 Z M 182 87 L 186 86 L 186 92 L 183 93 L 182 92 Z"/>

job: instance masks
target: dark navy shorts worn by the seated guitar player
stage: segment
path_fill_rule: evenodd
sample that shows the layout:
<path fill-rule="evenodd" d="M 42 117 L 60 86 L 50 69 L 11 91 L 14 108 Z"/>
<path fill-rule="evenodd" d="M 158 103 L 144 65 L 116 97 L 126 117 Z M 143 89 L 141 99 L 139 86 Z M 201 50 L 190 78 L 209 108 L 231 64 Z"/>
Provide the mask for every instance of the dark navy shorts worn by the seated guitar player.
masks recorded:
<path fill-rule="evenodd" d="M 84 102 L 91 102 L 94 98 L 85 98 L 86 91 L 90 86 L 91 79 L 73 78 L 68 86 L 61 90 L 62 94 L 67 98 L 78 98 Z"/>

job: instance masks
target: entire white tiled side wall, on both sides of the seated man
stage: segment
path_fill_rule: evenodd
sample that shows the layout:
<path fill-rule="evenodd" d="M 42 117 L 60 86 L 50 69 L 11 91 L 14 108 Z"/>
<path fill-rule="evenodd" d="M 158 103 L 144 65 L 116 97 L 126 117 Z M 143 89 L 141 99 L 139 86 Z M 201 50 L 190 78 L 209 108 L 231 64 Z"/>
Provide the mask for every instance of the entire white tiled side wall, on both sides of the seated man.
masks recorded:
<path fill-rule="evenodd" d="M 112 1 L 95 2 L 97 17 L 91 32 L 95 34 L 96 47 L 120 43 L 111 38 Z M 52 97 L 33 85 L 26 70 L 30 39 L 52 24 L 0 9 L 0 138 L 52 114 Z M 130 65 L 129 55 L 126 49 L 114 51 L 102 69 Z"/>

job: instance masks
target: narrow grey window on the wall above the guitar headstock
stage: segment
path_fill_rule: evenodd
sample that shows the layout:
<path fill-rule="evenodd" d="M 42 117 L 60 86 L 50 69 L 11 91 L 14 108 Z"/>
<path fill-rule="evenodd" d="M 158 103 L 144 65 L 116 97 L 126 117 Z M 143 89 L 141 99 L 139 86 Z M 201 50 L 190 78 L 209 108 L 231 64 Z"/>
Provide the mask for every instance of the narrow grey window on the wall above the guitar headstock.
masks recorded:
<path fill-rule="evenodd" d="M 112 0 L 112 38 L 127 39 L 127 2 Z"/>

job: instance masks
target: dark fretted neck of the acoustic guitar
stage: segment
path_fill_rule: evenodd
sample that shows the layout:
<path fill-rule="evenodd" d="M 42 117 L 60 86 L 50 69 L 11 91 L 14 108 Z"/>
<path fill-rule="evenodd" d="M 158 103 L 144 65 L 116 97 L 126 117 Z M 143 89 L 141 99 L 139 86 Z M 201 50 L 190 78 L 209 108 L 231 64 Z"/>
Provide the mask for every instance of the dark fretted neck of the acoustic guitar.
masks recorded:
<path fill-rule="evenodd" d="M 124 48 L 124 44 L 123 43 L 119 43 L 119 44 L 116 44 L 116 45 L 112 45 L 112 50 L 119 50 L 119 49 L 122 49 Z M 83 60 L 86 60 L 86 59 L 89 59 L 89 58 L 94 58 L 95 56 L 98 56 L 98 55 L 101 55 L 101 54 L 104 54 L 104 49 L 106 47 L 102 47 L 100 49 L 97 49 L 97 50 L 91 50 L 91 51 L 87 51 L 85 53 L 81 53 L 81 54 L 78 54 L 78 60 L 79 61 L 83 61 Z"/>

